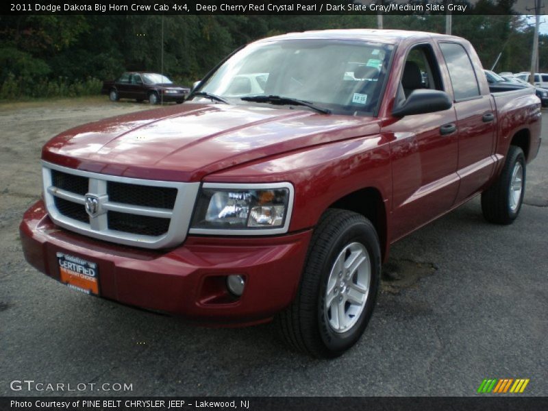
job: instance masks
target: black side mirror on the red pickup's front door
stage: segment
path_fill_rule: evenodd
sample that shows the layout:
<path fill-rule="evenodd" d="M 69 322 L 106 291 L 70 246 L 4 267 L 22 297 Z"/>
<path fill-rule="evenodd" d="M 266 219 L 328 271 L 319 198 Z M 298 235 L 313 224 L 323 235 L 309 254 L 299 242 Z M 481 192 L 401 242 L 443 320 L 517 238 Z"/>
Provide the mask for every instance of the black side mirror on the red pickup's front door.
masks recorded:
<path fill-rule="evenodd" d="M 413 114 L 426 114 L 443 110 L 449 110 L 453 106 L 451 97 L 445 91 L 440 90 L 413 90 L 409 97 L 397 106 L 392 115 L 395 117 L 412 116 Z"/>

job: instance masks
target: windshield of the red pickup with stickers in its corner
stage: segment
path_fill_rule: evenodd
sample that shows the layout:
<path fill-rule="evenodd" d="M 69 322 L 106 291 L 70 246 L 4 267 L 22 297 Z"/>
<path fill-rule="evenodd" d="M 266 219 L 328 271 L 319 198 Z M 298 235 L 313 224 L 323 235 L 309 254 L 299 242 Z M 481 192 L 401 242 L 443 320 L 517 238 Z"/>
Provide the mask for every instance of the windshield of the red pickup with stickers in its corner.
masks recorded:
<path fill-rule="evenodd" d="M 373 113 L 392 49 L 391 45 L 361 41 L 262 42 L 234 54 L 199 91 L 231 103 L 257 104 L 240 99 L 279 96 L 339 114 Z"/>

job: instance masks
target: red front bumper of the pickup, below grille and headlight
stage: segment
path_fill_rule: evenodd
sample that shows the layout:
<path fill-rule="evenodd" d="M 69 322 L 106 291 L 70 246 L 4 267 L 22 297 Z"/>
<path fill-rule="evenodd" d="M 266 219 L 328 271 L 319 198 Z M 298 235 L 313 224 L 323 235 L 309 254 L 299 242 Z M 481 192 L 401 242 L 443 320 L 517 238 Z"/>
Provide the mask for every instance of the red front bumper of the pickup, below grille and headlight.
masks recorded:
<path fill-rule="evenodd" d="M 295 297 L 312 232 L 268 238 L 189 236 L 164 251 L 125 247 L 55 226 L 42 201 L 19 227 L 29 264 L 60 280 L 57 252 L 95 262 L 101 297 L 199 321 L 247 325 L 268 321 Z M 240 298 L 229 294 L 227 275 L 240 274 Z M 67 290 L 66 292 L 69 292 Z"/>

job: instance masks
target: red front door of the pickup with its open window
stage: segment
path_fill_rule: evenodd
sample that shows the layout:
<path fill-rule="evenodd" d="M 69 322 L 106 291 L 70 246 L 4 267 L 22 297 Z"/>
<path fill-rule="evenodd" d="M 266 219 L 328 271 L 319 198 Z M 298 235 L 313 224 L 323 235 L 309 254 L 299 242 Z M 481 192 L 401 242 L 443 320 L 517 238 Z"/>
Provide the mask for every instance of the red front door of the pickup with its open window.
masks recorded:
<path fill-rule="evenodd" d="M 399 100 L 416 88 L 445 90 L 432 45 L 417 45 L 401 76 Z M 393 229 L 397 240 L 449 210 L 455 201 L 459 177 L 458 134 L 454 108 L 405 116 L 384 126 L 391 135 Z"/>

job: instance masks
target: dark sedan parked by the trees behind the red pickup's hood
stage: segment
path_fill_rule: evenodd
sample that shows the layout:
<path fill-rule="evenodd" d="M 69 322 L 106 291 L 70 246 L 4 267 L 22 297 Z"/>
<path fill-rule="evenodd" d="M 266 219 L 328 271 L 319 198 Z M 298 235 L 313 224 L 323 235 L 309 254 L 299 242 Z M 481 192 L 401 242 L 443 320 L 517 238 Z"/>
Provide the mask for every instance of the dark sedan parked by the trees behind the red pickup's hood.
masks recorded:
<path fill-rule="evenodd" d="M 158 73 L 123 73 L 118 79 L 103 82 L 101 94 L 108 95 L 111 101 L 119 99 L 148 100 L 151 104 L 164 101 L 182 103 L 190 88 L 177 86 L 169 78 Z"/>

